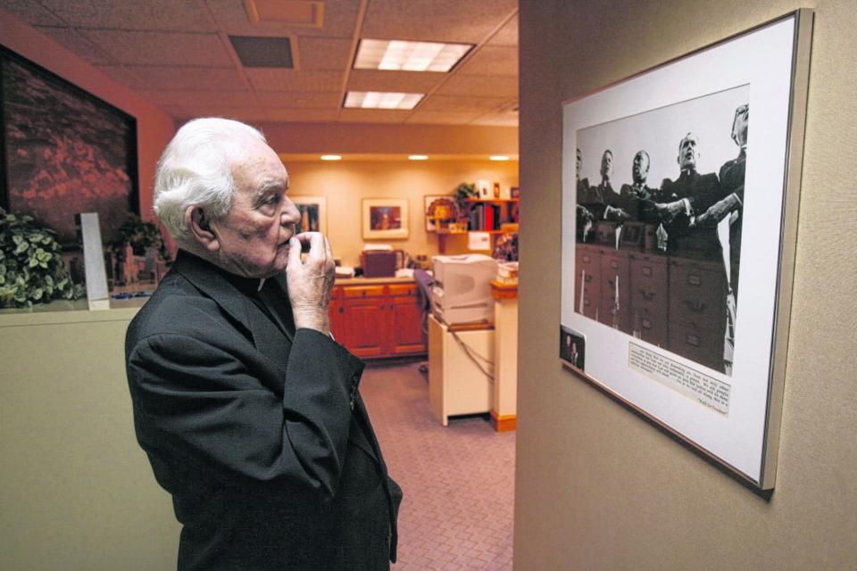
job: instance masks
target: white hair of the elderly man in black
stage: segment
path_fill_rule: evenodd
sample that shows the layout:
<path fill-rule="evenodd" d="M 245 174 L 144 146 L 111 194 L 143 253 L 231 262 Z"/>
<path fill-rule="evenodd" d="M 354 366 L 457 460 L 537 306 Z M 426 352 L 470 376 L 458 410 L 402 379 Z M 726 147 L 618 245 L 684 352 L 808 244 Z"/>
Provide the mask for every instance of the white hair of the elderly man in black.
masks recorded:
<path fill-rule="evenodd" d="M 202 206 L 212 219 L 229 213 L 235 181 L 229 168 L 232 141 L 265 136 L 236 120 L 207 117 L 188 121 L 164 149 L 154 176 L 154 212 L 179 244 L 190 244 L 185 222 L 189 206 Z"/>

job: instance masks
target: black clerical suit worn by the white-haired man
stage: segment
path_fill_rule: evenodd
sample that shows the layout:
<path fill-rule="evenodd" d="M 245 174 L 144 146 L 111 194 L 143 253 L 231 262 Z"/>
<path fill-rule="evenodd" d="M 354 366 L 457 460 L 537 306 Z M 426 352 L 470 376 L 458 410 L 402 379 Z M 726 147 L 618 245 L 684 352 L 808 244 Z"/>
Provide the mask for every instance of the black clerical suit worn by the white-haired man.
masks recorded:
<path fill-rule="evenodd" d="M 129 327 L 137 440 L 183 525 L 178 568 L 388 569 L 402 492 L 363 363 L 295 331 L 282 283 L 259 283 L 179 251 Z"/>

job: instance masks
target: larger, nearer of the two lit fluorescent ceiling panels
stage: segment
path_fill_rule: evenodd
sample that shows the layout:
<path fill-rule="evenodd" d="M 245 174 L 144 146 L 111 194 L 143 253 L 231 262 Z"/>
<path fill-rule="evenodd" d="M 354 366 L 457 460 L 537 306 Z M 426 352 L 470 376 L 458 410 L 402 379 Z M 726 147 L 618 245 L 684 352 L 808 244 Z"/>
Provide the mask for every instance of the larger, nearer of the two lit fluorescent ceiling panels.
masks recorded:
<path fill-rule="evenodd" d="M 362 39 L 354 60 L 354 69 L 449 71 L 471 47 L 472 44 Z"/>

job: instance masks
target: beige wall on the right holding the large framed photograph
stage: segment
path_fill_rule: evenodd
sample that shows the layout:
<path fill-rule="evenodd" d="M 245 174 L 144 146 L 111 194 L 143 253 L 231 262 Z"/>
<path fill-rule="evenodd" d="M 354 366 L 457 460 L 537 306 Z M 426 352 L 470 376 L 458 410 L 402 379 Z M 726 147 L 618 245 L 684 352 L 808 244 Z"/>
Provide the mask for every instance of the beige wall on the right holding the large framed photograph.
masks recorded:
<path fill-rule="evenodd" d="M 795 302 L 765 499 L 558 362 L 562 101 L 802 6 L 816 22 Z M 516 570 L 857 568 L 855 27 L 846 0 L 521 3 Z"/>

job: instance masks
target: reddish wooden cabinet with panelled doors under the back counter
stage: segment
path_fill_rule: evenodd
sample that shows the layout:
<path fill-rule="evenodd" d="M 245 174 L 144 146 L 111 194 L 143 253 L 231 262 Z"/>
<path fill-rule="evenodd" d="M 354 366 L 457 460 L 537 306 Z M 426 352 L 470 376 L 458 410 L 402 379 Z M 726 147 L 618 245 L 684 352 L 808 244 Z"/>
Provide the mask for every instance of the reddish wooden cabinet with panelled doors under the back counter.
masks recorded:
<path fill-rule="evenodd" d="M 330 301 L 330 330 L 361 359 L 426 352 L 423 313 L 415 283 L 337 285 Z"/>

